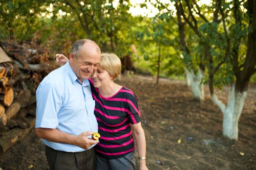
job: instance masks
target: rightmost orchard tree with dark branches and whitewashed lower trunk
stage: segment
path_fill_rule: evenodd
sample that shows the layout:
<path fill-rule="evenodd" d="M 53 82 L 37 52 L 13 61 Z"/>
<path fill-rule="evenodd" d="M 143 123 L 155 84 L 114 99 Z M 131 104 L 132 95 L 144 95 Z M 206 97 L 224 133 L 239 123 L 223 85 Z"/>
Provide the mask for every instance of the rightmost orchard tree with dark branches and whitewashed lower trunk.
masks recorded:
<path fill-rule="evenodd" d="M 226 37 L 226 57 L 232 66 L 227 105 L 218 100 L 211 90 L 215 103 L 223 113 L 223 134 L 238 140 L 238 122 L 246 99 L 251 76 L 256 72 L 256 1 L 221 2 L 220 13 Z M 229 15 L 231 12 L 231 15 Z M 231 20 L 230 20 L 231 18 Z"/>

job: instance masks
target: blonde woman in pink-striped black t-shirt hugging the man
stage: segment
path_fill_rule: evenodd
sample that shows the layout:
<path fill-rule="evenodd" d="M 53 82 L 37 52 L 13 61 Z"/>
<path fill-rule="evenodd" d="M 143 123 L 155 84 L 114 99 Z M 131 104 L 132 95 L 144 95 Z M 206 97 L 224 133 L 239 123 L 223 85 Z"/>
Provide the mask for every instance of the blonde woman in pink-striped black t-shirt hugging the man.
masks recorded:
<path fill-rule="evenodd" d="M 63 55 L 56 56 L 59 64 L 68 61 Z M 145 157 L 146 140 L 140 123 L 137 97 L 130 89 L 113 81 L 120 75 L 120 71 L 120 59 L 115 54 L 103 53 L 100 65 L 89 79 L 95 100 L 94 114 L 101 135 L 95 146 L 97 170 L 136 169 L 133 135 L 140 169 L 148 169 Z"/>

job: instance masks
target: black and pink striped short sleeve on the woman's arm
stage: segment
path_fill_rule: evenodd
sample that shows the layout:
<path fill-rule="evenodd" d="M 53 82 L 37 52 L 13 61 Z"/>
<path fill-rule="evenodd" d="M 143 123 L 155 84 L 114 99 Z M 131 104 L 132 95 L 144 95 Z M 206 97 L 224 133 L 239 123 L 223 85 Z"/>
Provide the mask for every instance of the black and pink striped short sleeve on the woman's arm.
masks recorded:
<path fill-rule="evenodd" d="M 140 123 L 140 110 L 139 110 L 139 103 L 137 100 L 137 96 L 129 95 L 128 102 L 127 102 L 127 109 L 129 110 L 129 120 L 131 124 L 138 124 Z"/>

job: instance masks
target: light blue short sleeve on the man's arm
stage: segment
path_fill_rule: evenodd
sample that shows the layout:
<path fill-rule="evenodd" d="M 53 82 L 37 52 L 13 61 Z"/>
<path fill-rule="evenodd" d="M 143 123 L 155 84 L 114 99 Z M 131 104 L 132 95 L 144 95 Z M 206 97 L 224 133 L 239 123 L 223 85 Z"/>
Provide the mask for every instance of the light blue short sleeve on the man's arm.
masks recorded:
<path fill-rule="evenodd" d="M 60 90 L 50 83 L 42 83 L 36 90 L 36 128 L 55 129 L 57 113 L 62 105 Z"/>

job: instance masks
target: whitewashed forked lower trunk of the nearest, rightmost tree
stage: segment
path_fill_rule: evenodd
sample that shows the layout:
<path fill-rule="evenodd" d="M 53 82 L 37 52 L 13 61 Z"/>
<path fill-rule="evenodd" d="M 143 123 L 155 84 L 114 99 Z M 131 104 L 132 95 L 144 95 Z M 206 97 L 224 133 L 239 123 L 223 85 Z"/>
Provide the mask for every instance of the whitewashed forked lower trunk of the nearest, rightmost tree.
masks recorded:
<path fill-rule="evenodd" d="M 239 92 L 232 85 L 229 92 L 227 106 L 223 104 L 215 94 L 212 100 L 219 106 L 223 114 L 223 135 L 229 139 L 238 140 L 238 121 L 241 116 L 247 92 Z"/>

